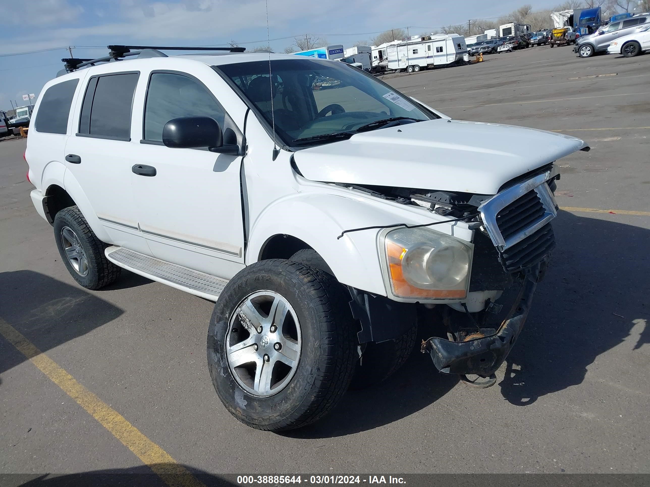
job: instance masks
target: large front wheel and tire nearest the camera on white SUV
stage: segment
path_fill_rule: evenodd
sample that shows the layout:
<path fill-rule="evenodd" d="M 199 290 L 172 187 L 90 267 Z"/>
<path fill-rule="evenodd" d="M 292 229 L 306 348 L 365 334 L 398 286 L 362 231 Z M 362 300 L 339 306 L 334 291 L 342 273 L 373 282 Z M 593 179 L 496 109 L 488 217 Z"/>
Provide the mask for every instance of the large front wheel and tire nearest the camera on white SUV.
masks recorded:
<path fill-rule="evenodd" d="M 207 337 L 214 389 L 235 418 L 255 429 L 309 425 L 350 384 L 355 331 L 344 288 L 332 275 L 289 260 L 256 262 L 214 305 Z"/>

